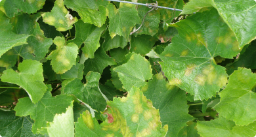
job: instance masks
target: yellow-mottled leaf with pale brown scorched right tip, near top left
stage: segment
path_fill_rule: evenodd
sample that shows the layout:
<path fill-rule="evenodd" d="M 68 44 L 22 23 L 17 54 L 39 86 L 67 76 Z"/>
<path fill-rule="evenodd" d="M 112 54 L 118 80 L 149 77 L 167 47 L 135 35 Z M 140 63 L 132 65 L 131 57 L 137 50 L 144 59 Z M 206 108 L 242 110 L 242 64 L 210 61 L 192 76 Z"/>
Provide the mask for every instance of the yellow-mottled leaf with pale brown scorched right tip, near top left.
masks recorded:
<path fill-rule="evenodd" d="M 66 31 L 72 28 L 72 25 L 77 22 L 77 18 L 68 12 L 64 6 L 63 0 L 56 0 L 51 12 L 42 14 L 43 22 L 53 25 L 57 31 Z"/>

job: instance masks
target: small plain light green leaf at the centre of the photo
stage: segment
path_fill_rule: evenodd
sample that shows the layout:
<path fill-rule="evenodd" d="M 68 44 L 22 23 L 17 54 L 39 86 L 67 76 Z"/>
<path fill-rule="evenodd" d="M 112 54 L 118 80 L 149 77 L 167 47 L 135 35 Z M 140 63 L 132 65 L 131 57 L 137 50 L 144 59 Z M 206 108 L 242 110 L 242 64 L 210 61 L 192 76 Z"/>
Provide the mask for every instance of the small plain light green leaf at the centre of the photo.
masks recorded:
<path fill-rule="evenodd" d="M 123 84 L 123 87 L 129 91 L 133 85 L 141 87 L 146 85 L 146 80 L 152 78 L 152 69 L 150 63 L 141 55 L 131 55 L 129 61 L 113 69 Z"/>

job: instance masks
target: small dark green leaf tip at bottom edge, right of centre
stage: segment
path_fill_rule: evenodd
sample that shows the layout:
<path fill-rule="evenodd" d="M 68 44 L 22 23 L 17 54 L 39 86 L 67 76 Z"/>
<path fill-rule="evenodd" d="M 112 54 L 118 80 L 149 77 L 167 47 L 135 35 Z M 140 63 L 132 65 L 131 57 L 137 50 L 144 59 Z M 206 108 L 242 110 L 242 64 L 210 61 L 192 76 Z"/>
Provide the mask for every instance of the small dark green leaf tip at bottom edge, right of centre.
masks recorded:
<path fill-rule="evenodd" d="M 200 134 L 198 134 L 198 130 L 196 127 L 196 123 L 189 121 L 186 123 L 186 127 L 180 130 L 178 136 L 179 137 L 200 137 Z"/>

